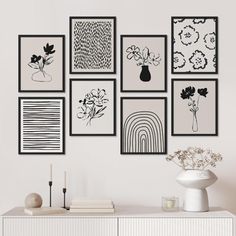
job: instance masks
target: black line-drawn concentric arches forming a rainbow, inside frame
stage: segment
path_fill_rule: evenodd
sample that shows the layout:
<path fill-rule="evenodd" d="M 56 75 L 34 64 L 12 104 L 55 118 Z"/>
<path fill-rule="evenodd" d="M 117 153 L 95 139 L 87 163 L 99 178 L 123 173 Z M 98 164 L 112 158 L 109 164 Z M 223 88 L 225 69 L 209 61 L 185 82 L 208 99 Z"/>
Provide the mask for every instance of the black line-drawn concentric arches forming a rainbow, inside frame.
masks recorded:
<path fill-rule="evenodd" d="M 138 153 L 164 152 L 164 129 L 161 119 L 151 111 L 130 114 L 124 123 L 124 151 Z"/>

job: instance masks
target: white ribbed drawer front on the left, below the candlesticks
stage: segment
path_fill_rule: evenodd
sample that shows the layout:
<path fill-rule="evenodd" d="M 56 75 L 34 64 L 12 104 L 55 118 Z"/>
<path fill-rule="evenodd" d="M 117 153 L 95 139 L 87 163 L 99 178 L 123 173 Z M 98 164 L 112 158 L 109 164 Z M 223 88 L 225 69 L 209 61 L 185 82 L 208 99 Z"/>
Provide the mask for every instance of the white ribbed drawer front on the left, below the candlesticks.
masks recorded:
<path fill-rule="evenodd" d="M 3 236 L 117 236 L 116 218 L 10 217 Z"/>

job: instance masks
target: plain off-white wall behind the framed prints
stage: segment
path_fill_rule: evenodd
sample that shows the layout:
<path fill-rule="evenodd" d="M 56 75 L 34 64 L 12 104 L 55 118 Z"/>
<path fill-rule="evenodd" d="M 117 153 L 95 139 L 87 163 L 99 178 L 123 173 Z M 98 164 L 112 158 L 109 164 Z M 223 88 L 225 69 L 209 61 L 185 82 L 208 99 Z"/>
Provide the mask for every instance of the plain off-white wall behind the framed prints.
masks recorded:
<path fill-rule="evenodd" d="M 117 16 L 118 112 L 116 137 L 70 137 L 69 16 Z M 219 16 L 219 137 L 171 137 L 170 135 L 170 17 L 172 15 Z M 112 198 L 116 204 L 160 205 L 161 196 L 183 199 L 184 189 L 175 182 L 180 171 L 165 156 L 121 156 L 119 136 L 119 35 L 168 34 L 169 152 L 191 145 L 219 151 L 224 161 L 214 170 L 219 180 L 209 188 L 211 205 L 236 212 L 235 155 L 235 5 L 234 0 L 15 0 L 0 3 L 0 212 L 23 205 L 30 192 L 48 204 L 49 164 L 54 165 L 53 204 L 62 205 L 63 171 L 69 173 L 68 198 Z M 19 156 L 18 153 L 18 34 L 66 35 L 66 155 Z M 86 77 L 86 76 L 80 76 Z M 91 77 L 91 76 L 87 76 Z M 97 76 L 102 77 L 103 76 Z M 188 76 L 185 76 L 188 78 Z M 198 76 L 194 76 L 198 77 Z M 204 77 L 204 76 L 203 76 Z M 27 96 L 45 94 L 27 94 Z M 46 94 L 48 95 L 48 94 Z M 53 94 L 52 94 L 53 95 Z M 129 94 L 124 94 L 128 96 Z M 134 95 L 134 94 L 131 94 Z M 139 96 L 140 94 L 136 94 Z M 146 95 L 146 94 L 142 94 Z M 153 94 L 150 94 L 153 95 Z M 69 200 L 68 199 L 68 200 Z"/>

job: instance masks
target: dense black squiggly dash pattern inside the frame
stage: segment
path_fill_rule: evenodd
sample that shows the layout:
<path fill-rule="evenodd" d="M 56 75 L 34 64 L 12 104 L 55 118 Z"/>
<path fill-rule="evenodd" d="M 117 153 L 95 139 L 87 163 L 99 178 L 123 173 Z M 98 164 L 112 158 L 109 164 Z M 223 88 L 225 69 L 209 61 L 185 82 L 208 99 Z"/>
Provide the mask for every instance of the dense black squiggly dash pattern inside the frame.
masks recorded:
<path fill-rule="evenodd" d="M 74 24 L 74 69 L 112 68 L 112 23 L 77 21 Z"/>

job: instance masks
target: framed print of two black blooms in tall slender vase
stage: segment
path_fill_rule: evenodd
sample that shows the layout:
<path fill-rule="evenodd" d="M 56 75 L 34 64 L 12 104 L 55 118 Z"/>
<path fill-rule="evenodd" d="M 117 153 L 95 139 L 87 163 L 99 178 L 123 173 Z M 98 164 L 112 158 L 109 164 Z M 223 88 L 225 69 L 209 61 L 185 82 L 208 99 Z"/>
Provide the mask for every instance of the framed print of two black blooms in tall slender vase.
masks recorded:
<path fill-rule="evenodd" d="M 218 80 L 172 80 L 172 135 L 218 135 Z"/>

